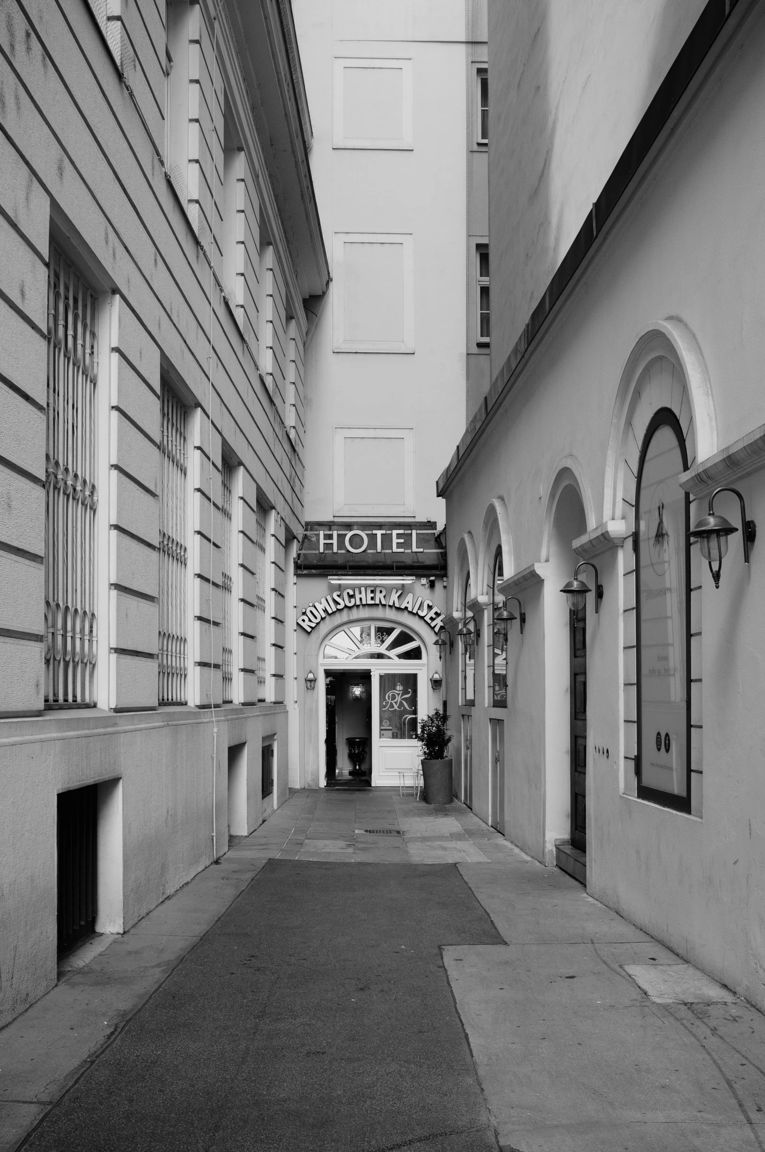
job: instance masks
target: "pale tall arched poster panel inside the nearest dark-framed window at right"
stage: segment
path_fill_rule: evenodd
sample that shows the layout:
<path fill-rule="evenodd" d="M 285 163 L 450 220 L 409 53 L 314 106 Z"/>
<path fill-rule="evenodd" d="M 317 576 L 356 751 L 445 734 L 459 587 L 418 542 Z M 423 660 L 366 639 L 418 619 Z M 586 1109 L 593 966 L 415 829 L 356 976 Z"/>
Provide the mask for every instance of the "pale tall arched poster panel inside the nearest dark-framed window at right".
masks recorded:
<path fill-rule="evenodd" d="M 639 491 L 641 782 L 687 794 L 686 493 L 674 431 L 660 425 Z"/>

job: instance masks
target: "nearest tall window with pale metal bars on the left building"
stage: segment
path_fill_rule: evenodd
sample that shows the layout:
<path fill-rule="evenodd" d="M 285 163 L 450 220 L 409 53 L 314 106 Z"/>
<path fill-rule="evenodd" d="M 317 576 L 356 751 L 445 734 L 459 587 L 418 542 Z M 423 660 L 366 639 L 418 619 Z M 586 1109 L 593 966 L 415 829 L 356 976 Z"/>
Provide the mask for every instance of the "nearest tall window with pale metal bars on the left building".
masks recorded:
<path fill-rule="evenodd" d="M 52 244 L 45 454 L 45 703 L 96 704 L 97 301 Z"/>

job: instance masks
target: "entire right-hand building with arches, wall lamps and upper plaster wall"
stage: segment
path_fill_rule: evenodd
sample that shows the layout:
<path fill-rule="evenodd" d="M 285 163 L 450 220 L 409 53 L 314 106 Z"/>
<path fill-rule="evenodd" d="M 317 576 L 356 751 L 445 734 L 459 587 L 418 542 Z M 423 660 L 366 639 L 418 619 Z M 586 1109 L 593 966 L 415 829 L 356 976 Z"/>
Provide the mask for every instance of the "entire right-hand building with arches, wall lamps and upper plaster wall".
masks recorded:
<path fill-rule="evenodd" d="M 760 1007 L 764 60 L 748 0 L 490 2 L 492 382 L 438 485 L 457 794 Z"/>

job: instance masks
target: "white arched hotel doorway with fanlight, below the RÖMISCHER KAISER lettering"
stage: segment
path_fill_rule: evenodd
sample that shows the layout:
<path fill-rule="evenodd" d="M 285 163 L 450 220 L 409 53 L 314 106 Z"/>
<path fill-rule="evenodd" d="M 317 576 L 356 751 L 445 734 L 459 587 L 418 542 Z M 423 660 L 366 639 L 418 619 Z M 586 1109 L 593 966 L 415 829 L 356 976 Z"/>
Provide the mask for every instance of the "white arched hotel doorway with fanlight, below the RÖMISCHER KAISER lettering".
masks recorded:
<path fill-rule="evenodd" d="M 365 620 L 333 632 L 319 664 L 320 786 L 397 787 L 399 773 L 416 766 L 417 726 L 427 711 L 424 642 L 391 620 Z"/>

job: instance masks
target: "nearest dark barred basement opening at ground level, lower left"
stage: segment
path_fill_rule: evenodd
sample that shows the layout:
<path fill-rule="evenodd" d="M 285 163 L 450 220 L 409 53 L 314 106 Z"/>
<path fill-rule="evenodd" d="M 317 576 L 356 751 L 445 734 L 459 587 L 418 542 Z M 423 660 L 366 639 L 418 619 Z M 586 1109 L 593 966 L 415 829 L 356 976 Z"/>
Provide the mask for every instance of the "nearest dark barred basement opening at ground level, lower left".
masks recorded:
<path fill-rule="evenodd" d="M 56 803 L 59 954 L 96 926 L 98 786 L 59 793 Z"/>

